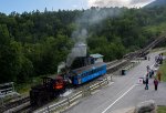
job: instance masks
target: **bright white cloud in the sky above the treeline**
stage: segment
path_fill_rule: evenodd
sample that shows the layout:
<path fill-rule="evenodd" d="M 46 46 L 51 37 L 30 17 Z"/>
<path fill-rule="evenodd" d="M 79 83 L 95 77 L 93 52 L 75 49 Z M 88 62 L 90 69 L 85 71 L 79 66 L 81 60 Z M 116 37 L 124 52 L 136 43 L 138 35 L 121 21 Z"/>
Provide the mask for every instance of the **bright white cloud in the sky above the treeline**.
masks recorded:
<path fill-rule="evenodd" d="M 154 0 L 89 0 L 89 7 L 143 7 Z"/>

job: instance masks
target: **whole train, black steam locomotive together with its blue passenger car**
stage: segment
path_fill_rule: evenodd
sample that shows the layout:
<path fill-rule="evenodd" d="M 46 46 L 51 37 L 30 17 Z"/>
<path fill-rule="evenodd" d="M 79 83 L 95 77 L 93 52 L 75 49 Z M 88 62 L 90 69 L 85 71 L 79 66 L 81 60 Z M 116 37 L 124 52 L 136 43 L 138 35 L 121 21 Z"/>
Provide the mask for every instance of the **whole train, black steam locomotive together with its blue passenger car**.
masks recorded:
<path fill-rule="evenodd" d="M 71 68 L 63 69 L 61 74 L 42 78 L 42 84 L 31 88 L 31 106 L 41 106 L 65 92 L 69 85 L 82 85 L 105 73 L 106 63 L 96 62 L 96 58 L 76 58 Z"/>

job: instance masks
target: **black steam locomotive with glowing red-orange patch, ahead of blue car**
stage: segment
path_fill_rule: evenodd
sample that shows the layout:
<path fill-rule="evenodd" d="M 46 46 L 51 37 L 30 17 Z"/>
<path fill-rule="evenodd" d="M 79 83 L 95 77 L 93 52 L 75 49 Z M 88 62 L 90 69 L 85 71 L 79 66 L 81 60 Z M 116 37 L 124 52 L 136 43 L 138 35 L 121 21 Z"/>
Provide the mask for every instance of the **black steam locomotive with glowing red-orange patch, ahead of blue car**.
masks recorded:
<path fill-rule="evenodd" d="M 32 107 L 41 106 L 44 103 L 59 96 L 64 91 L 65 82 L 62 76 L 42 78 L 43 84 L 31 88 L 30 102 Z"/>

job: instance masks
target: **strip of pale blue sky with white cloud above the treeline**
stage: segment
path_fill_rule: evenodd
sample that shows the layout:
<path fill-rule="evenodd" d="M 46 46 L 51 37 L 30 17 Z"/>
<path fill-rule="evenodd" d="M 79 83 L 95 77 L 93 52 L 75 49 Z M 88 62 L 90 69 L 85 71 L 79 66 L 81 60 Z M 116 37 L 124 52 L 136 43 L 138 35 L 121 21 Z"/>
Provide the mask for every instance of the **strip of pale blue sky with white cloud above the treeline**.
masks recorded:
<path fill-rule="evenodd" d="M 11 13 L 13 11 L 22 13 L 33 10 L 56 11 L 59 9 L 74 10 L 87 9 L 91 7 L 143 7 L 154 0 L 0 0 L 0 12 Z"/>

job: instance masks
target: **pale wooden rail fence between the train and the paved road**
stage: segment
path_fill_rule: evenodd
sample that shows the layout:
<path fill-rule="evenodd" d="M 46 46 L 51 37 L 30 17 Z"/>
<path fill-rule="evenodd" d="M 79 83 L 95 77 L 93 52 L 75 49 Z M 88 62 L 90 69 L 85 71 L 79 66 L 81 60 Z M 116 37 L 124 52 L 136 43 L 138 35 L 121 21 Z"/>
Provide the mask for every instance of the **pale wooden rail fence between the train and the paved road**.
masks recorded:
<path fill-rule="evenodd" d="M 51 112 L 61 113 L 62 111 L 66 110 L 68 107 L 71 107 L 74 104 L 79 103 L 82 97 L 91 95 L 92 92 L 94 92 L 95 90 L 100 89 L 103 85 L 108 84 L 111 81 L 112 81 L 112 75 L 106 76 L 102 81 L 100 81 L 93 85 L 90 85 L 90 86 L 84 86 L 81 91 L 74 93 L 73 95 L 68 96 L 66 99 L 64 99 L 55 104 L 52 104 L 44 109 L 35 111 L 34 113 L 51 113 Z"/>

